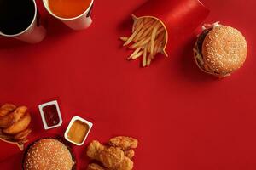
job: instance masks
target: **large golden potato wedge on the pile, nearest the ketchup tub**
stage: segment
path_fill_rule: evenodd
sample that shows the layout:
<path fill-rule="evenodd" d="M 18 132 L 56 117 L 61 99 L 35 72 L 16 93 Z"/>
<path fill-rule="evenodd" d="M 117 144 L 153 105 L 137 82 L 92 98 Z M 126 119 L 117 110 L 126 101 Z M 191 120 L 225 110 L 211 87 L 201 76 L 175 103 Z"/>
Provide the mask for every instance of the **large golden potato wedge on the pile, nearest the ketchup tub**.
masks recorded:
<path fill-rule="evenodd" d="M 17 134 L 21 131 L 24 131 L 26 127 L 28 127 L 31 122 L 31 116 L 28 112 L 26 112 L 25 116 L 22 116 L 18 122 L 15 122 L 10 127 L 3 129 L 3 133 L 7 134 Z"/>

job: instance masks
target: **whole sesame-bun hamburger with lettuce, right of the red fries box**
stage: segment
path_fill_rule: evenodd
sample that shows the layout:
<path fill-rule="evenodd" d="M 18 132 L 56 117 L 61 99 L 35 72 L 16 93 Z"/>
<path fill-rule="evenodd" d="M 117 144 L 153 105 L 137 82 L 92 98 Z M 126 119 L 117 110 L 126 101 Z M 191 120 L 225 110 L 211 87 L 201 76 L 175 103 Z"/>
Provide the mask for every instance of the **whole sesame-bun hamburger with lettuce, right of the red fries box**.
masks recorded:
<path fill-rule="evenodd" d="M 208 74 L 228 77 L 241 68 L 247 58 L 247 41 L 230 26 L 203 26 L 194 48 L 195 63 Z"/>

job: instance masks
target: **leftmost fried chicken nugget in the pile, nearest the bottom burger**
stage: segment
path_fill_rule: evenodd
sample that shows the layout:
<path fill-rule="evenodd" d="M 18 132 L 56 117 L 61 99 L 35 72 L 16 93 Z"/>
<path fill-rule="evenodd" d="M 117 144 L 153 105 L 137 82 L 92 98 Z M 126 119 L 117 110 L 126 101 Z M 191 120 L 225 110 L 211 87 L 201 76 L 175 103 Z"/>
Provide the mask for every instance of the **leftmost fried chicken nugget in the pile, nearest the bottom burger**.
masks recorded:
<path fill-rule="evenodd" d="M 105 146 L 103 144 L 97 140 L 93 140 L 88 146 L 87 156 L 89 156 L 90 159 L 99 160 L 100 152 L 104 149 Z"/>

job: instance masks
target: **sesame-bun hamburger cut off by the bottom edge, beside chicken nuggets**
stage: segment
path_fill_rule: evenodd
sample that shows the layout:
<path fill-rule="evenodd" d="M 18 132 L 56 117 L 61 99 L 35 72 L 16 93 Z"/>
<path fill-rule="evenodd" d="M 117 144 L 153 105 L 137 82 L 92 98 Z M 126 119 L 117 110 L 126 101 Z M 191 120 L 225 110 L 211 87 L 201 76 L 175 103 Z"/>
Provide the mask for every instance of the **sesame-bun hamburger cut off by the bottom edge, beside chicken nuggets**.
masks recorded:
<path fill-rule="evenodd" d="M 24 170 L 73 170 L 74 156 L 71 150 L 56 139 L 40 139 L 33 143 L 24 156 Z"/>

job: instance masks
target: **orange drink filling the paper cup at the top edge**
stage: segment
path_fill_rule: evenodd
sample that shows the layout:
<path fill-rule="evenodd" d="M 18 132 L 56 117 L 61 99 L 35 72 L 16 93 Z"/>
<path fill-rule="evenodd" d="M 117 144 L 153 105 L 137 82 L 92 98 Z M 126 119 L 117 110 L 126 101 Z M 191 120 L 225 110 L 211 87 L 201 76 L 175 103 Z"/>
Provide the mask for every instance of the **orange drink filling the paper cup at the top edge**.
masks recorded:
<path fill-rule="evenodd" d="M 74 18 L 89 8 L 91 0 L 49 0 L 49 8 L 53 14 L 61 18 Z"/>

